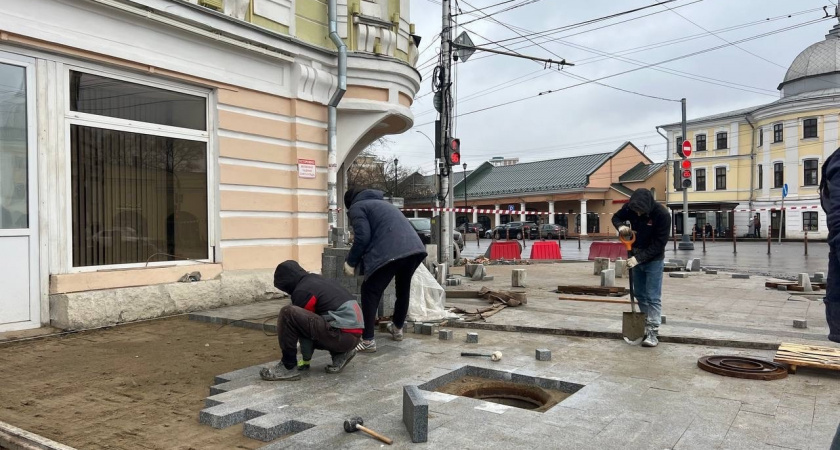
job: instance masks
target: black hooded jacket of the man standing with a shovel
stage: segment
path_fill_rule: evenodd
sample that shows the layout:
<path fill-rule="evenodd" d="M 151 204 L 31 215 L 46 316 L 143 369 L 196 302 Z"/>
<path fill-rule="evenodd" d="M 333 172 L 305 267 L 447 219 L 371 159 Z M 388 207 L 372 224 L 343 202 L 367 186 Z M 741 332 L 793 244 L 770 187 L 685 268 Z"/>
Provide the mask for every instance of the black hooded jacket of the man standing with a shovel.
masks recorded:
<path fill-rule="evenodd" d="M 642 215 L 636 213 L 641 211 Z M 624 222 L 636 232 L 633 243 L 633 256 L 639 264 L 665 258 L 665 246 L 671 231 L 671 216 L 664 206 L 656 203 L 653 194 L 647 189 L 638 189 L 630 196 L 630 201 L 613 214 L 616 229 Z"/>

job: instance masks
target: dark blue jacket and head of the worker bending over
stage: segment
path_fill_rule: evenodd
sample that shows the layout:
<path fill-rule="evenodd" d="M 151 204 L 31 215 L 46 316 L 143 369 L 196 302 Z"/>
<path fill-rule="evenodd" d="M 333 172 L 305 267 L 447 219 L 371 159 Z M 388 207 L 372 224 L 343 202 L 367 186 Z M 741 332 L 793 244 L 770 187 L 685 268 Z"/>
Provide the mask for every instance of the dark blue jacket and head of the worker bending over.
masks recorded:
<path fill-rule="evenodd" d="M 403 213 L 385 201 L 382 191 L 352 190 L 345 195 L 353 226 L 353 247 L 347 264 L 369 277 L 385 264 L 413 255 L 426 255 L 426 246 Z"/>

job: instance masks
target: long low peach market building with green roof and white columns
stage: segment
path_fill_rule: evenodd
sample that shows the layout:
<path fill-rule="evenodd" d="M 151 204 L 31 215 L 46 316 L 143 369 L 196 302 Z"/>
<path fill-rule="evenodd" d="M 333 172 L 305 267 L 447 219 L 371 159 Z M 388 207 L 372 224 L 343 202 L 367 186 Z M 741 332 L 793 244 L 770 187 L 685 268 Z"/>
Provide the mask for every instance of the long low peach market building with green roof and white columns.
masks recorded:
<path fill-rule="evenodd" d="M 651 189 L 665 201 L 665 165 L 654 163 L 631 142 L 609 153 L 499 165 L 488 161 L 461 174 L 453 189 L 453 206 L 469 211 L 456 223 L 469 220 L 494 227 L 512 221 L 551 223 L 567 227 L 569 235 L 606 236 L 611 215 L 633 191 Z M 417 176 L 417 175 L 415 175 Z M 433 176 L 424 178 L 433 183 Z M 409 177 L 404 183 L 414 182 Z M 434 198 L 405 201 L 407 215 L 431 216 Z M 491 212 L 488 212 L 491 211 Z"/>

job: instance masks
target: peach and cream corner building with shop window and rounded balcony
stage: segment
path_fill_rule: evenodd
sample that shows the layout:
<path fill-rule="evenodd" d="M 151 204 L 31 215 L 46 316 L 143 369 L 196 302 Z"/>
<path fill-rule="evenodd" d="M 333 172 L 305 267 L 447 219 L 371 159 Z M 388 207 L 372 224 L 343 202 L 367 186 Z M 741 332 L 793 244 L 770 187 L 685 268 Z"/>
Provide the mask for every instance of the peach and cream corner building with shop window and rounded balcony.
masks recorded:
<path fill-rule="evenodd" d="M 285 259 L 320 270 L 344 162 L 413 125 L 408 12 L 4 1 L 0 331 L 247 302 Z"/>

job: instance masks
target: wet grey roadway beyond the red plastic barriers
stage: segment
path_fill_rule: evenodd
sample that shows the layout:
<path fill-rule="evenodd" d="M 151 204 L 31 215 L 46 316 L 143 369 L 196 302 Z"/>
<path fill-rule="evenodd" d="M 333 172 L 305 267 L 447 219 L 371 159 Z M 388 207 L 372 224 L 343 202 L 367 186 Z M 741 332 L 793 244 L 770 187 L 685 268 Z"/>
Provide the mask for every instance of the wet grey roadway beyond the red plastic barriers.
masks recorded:
<path fill-rule="evenodd" d="M 487 251 L 489 239 L 482 239 L 480 245 L 475 241 L 467 242 L 464 246 L 462 256 L 474 259 L 482 256 Z M 560 249 L 564 260 L 585 261 L 589 257 L 590 240 L 561 240 Z M 525 241 L 524 256 L 530 255 L 531 245 L 534 241 Z M 580 249 L 578 249 L 580 244 Z M 701 264 L 706 267 L 738 269 L 744 272 L 765 274 L 772 276 L 796 276 L 798 273 L 827 272 L 828 271 L 828 244 L 825 242 L 809 242 L 808 255 L 805 255 L 803 242 L 773 242 L 770 245 L 770 254 L 767 254 L 766 241 L 743 241 L 737 242 L 733 248 L 731 241 L 706 242 L 706 251 L 703 252 L 703 243 L 695 242 L 694 250 L 673 250 L 673 244 L 666 247 L 665 257 L 675 259 L 700 258 Z M 737 253 L 735 252 L 737 251 Z"/>

